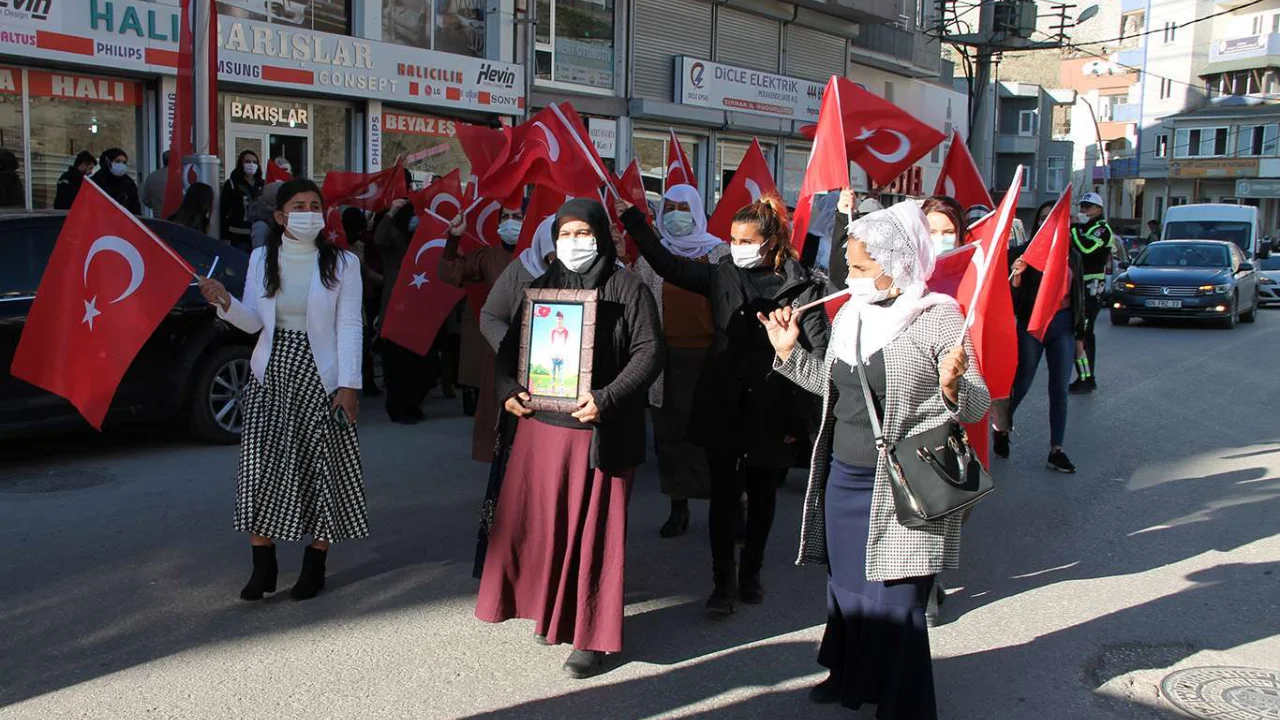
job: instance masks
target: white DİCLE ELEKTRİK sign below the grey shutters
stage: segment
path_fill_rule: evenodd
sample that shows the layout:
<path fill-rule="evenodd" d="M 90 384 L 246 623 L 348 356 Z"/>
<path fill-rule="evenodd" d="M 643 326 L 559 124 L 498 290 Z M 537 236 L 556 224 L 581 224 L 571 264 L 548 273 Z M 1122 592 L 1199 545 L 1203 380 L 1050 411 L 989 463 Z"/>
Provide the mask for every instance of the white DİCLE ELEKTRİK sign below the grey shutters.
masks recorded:
<path fill-rule="evenodd" d="M 676 102 L 814 122 L 822 109 L 823 86 L 806 79 L 676 58 Z"/>

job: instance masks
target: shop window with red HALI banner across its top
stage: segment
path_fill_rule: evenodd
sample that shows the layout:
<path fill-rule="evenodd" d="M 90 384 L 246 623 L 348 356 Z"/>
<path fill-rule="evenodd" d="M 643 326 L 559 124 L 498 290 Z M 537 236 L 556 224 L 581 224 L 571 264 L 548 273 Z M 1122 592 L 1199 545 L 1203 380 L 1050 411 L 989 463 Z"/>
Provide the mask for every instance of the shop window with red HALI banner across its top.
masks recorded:
<path fill-rule="evenodd" d="M 138 114 L 142 86 L 134 81 L 27 70 L 31 95 L 32 208 L 54 206 L 58 177 L 88 150 L 95 156 L 119 147 L 129 156 L 129 173 L 138 172 Z"/>

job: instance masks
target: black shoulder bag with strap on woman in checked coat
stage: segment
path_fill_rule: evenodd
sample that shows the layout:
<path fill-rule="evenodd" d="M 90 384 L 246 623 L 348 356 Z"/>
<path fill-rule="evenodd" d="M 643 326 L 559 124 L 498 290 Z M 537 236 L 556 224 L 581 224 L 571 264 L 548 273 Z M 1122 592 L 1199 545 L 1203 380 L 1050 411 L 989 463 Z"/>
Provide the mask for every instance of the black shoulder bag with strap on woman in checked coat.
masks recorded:
<path fill-rule="evenodd" d="M 996 489 L 991 474 L 978 461 L 969 446 L 964 427 L 947 420 L 932 430 L 902 438 L 893 445 L 884 442 L 872 387 L 863 369 L 863 328 L 858 319 L 858 378 L 863 383 L 867 415 L 876 433 L 876 447 L 888 464 L 890 487 L 893 488 L 893 507 L 897 521 L 905 528 L 920 528 L 928 523 L 973 507 L 987 493 Z"/>

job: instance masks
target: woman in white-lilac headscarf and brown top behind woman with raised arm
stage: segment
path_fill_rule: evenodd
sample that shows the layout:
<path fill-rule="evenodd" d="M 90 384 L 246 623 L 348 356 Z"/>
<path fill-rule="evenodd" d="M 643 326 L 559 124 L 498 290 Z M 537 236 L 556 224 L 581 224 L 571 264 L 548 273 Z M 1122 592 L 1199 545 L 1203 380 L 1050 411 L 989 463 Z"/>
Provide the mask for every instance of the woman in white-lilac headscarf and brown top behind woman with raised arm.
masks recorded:
<path fill-rule="evenodd" d="M 658 238 L 677 258 L 714 265 L 728 256 L 728 243 L 707 232 L 707 213 L 698 190 L 672 186 L 658 209 Z M 667 338 L 663 374 L 649 388 L 653 436 L 658 451 L 662 492 L 671 498 L 671 515 L 659 533 L 672 538 L 689 529 L 689 500 L 710 496 L 707 454 L 687 441 L 698 377 L 716 336 L 707 297 L 669 283 L 640 258 L 635 273 L 653 292 Z"/>

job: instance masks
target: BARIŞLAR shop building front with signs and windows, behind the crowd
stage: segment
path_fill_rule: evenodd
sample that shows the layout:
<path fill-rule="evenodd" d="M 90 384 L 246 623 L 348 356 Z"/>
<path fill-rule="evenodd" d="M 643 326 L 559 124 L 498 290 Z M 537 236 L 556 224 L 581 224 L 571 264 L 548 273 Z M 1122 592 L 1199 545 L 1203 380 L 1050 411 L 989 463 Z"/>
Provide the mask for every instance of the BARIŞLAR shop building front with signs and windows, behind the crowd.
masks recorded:
<path fill-rule="evenodd" d="M 457 122 L 525 113 L 513 1 L 219 0 L 216 154 L 252 150 L 294 176 L 466 169 Z M 120 147 L 141 182 L 169 146 L 178 64 L 175 1 L 23 3 L 0 29 L 0 159 L 20 202 L 52 206 L 77 152 Z"/>

